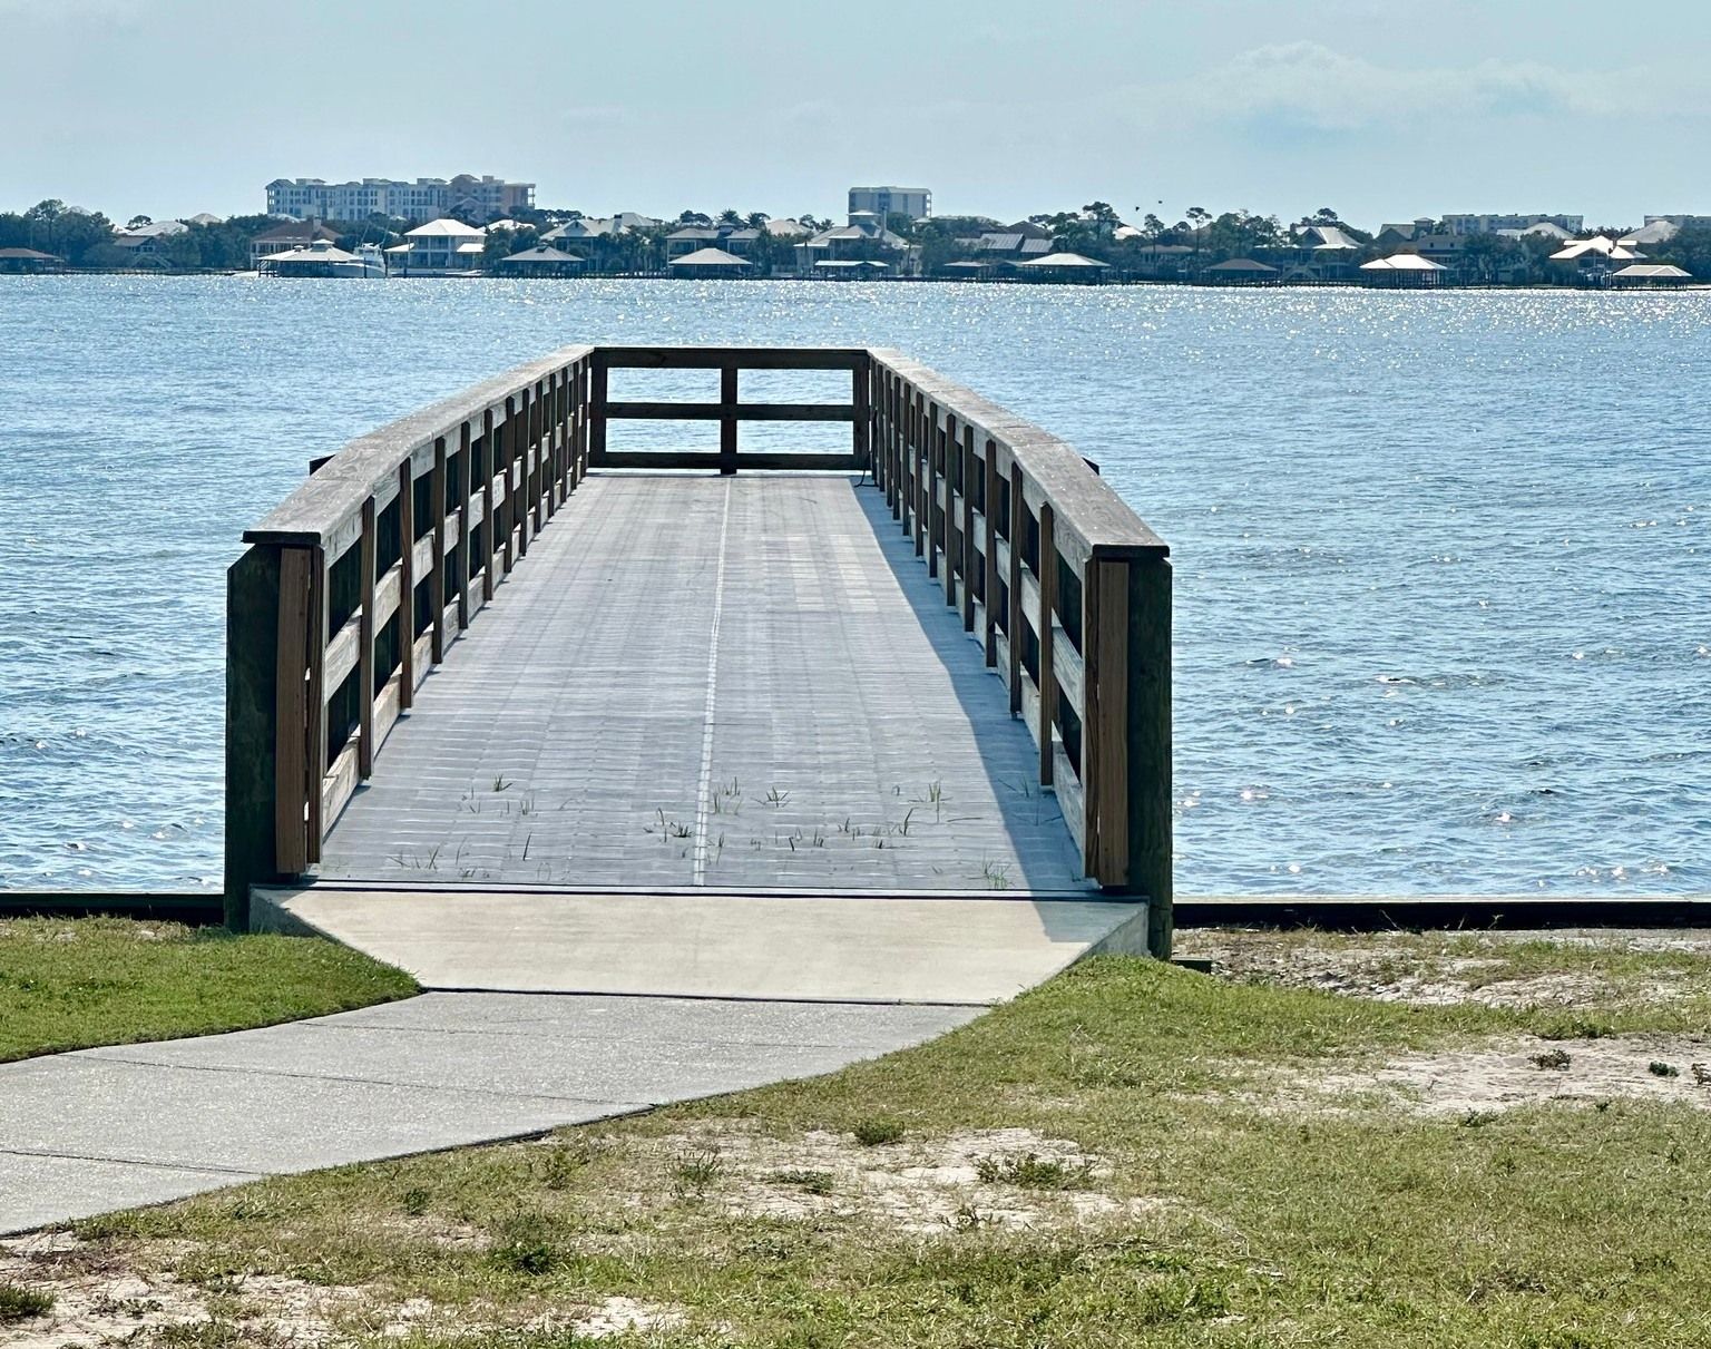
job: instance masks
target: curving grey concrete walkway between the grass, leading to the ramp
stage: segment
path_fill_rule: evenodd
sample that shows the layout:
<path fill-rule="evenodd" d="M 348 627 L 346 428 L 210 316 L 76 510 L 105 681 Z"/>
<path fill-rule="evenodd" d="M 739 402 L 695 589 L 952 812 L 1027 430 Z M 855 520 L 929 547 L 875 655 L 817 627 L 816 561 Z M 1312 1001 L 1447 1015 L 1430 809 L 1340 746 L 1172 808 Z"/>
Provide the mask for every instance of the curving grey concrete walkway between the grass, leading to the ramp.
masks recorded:
<path fill-rule="evenodd" d="M 0 1065 L 0 1234 L 813 1077 L 979 1012 L 429 993 Z"/>

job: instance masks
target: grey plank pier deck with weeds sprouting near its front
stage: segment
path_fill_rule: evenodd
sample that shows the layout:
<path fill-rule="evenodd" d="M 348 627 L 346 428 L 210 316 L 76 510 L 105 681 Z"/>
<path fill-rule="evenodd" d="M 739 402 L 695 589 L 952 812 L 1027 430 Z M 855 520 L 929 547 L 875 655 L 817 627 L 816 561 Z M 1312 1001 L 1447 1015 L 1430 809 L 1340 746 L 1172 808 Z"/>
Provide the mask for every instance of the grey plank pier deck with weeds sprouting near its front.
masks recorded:
<path fill-rule="evenodd" d="M 323 878 L 1092 887 L 980 647 L 849 476 L 595 474 L 459 645 Z"/>

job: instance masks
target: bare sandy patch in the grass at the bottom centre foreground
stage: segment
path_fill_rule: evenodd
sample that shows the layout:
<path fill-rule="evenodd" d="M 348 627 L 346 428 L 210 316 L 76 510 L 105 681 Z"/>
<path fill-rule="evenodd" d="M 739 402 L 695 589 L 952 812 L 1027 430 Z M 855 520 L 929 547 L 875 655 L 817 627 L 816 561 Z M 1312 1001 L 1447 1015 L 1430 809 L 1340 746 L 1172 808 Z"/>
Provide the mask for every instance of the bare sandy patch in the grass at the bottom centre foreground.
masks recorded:
<path fill-rule="evenodd" d="M 1109 1164 L 1075 1142 L 1023 1128 L 864 1147 L 849 1133 L 813 1130 L 773 1138 L 729 1123 L 667 1135 L 654 1147 L 679 1176 L 683 1159 L 700 1174 L 712 1171 L 698 1195 L 744 1217 L 873 1219 L 897 1231 L 929 1233 L 980 1224 L 1063 1227 L 1163 1203 L 1105 1193 Z M 1047 1185 L 1009 1183 L 1018 1164 L 1023 1173 L 1044 1173 Z"/>

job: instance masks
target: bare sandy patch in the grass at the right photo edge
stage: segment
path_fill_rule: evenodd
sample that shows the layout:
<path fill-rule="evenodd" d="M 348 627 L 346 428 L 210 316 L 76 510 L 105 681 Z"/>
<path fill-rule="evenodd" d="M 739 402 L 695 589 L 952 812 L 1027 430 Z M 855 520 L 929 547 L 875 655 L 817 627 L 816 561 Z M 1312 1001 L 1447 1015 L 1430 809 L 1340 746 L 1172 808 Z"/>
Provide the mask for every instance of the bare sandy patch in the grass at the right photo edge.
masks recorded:
<path fill-rule="evenodd" d="M 1697 1036 L 1518 1036 L 1466 1049 L 1405 1055 L 1371 1070 L 1338 1067 L 1290 1073 L 1276 1079 L 1275 1092 L 1256 1102 L 1268 1109 L 1335 1109 L 1340 1097 L 1372 1092 L 1429 1116 L 1613 1099 L 1711 1109 L 1711 1041 Z"/>

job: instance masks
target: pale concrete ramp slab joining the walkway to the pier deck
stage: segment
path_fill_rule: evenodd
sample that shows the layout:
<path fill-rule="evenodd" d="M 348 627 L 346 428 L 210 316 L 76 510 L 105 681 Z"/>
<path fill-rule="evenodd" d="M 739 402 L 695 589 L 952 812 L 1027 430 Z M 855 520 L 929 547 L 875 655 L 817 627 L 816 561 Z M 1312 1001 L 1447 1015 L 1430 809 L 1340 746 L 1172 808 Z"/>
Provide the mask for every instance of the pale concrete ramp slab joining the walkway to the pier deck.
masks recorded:
<path fill-rule="evenodd" d="M 1146 954 L 1146 906 L 1027 895 L 257 890 L 429 989 L 980 1005 L 1085 955 Z"/>

